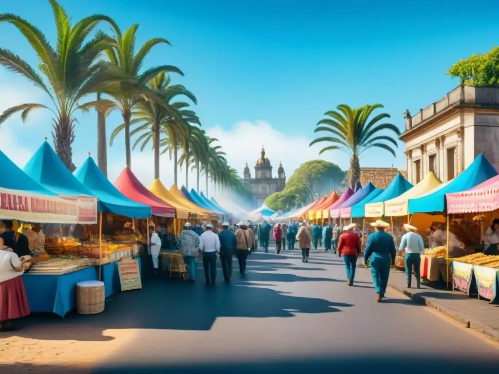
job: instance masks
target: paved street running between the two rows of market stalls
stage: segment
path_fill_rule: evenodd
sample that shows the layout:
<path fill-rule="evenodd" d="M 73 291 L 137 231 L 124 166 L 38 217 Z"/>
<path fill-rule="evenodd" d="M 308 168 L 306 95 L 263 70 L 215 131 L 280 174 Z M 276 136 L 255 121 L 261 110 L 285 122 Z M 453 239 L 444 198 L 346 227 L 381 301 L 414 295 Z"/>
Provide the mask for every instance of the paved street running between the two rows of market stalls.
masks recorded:
<path fill-rule="evenodd" d="M 237 262 L 234 262 L 237 268 Z M 235 269 L 236 270 L 236 269 Z M 201 271 L 201 269 L 200 269 Z M 389 292 L 375 302 L 369 273 L 345 284 L 342 259 L 298 250 L 255 253 L 248 274 L 221 272 L 215 287 L 146 280 L 114 295 L 104 313 L 33 316 L 17 336 L 2 336 L 0 372 L 384 373 L 496 368 L 498 347 L 432 309 Z M 8 358 L 23 350 L 23 358 Z M 51 362 L 38 355 L 51 353 Z M 35 364 L 39 366 L 35 366 Z"/>

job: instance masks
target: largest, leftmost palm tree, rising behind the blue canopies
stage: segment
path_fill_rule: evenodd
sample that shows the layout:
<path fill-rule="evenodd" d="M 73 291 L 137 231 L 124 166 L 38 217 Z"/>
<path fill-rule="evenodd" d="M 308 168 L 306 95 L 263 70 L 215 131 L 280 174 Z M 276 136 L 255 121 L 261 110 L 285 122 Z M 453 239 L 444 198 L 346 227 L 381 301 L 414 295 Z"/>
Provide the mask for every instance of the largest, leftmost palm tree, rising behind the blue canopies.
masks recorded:
<path fill-rule="evenodd" d="M 27 20 L 11 13 L 0 14 L 0 22 L 13 24 L 29 42 L 38 56 L 39 71 L 48 84 L 25 60 L 3 48 L 0 48 L 0 65 L 41 88 L 53 106 L 50 108 L 36 103 L 16 105 L 0 115 L 0 125 L 14 113 L 20 112 L 21 119 L 25 121 L 32 110 L 49 109 L 53 113 L 52 138 L 55 152 L 64 165 L 74 171 L 71 145 L 77 123 L 74 112 L 79 100 L 99 92 L 111 81 L 122 79 L 118 72 L 110 69 L 108 63 L 97 61 L 100 53 L 110 47 L 113 39 L 102 32 L 97 32 L 90 40 L 87 37 L 101 21 L 106 21 L 113 27 L 117 25 L 110 17 L 102 14 L 85 17 L 72 25 L 71 19 L 57 1 L 49 0 L 49 3 L 57 31 L 55 49 L 41 30 Z"/>

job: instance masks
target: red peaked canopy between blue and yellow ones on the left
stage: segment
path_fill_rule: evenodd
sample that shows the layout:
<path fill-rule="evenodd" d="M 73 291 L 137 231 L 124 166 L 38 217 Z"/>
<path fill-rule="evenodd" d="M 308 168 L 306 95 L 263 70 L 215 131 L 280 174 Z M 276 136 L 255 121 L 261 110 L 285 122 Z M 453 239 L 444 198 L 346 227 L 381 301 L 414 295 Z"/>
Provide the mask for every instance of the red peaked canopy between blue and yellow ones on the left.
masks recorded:
<path fill-rule="evenodd" d="M 116 179 L 114 187 L 129 199 L 151 206 L 153 215 L 175 217 L 175 208 L 144 187 L 128 167 Z"/>

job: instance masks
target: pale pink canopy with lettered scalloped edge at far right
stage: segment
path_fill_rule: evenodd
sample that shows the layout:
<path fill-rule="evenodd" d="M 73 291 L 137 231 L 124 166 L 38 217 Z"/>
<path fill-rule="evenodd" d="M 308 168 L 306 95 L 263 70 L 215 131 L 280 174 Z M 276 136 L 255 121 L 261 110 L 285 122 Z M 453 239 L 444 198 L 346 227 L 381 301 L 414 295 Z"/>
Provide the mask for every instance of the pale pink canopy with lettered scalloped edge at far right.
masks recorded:
<path fill-rule="evenodd" d="M 481 213 L 499 209 L 499 175 L 462 192 L 446 193 L 448 213 Z"/>

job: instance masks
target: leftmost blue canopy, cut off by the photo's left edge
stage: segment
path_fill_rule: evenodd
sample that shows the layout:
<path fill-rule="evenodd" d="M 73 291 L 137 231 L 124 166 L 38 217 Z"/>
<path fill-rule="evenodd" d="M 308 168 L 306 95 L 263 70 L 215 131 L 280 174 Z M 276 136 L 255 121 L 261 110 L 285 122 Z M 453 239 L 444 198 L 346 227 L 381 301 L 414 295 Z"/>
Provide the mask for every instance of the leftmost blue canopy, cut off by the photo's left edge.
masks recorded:
<path fill-rule="evenodd" d="M 48 196 L 57 195 L 57 193 L 52 192 L 36 183 L 1 151 L 0 165 L 2 166 L 2 175 L 4 176 L 4 178 L 0 178 L 0 187 L 20 191 L 29 191 Z"/>

